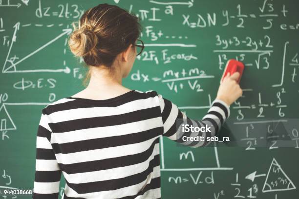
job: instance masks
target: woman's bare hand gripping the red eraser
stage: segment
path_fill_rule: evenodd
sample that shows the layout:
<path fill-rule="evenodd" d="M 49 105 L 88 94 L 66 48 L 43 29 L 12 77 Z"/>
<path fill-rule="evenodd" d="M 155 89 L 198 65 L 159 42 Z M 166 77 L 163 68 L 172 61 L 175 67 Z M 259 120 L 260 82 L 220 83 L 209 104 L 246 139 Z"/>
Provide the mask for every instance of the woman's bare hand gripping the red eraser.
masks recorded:
<path fill-rule="evenodd" d="M 239 72 L 235 72 L 232 76 L 230 76 L 230 73 L 227 73 L 220 83 L 216 99 L 224 101 L 227 105 L 231 105 L 235 100 L 241 97 L 243 91 L 236 81 L 239 76 Z"/>

